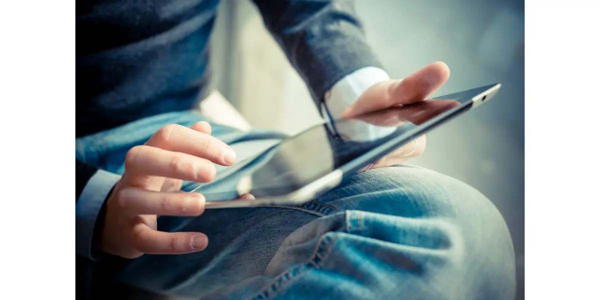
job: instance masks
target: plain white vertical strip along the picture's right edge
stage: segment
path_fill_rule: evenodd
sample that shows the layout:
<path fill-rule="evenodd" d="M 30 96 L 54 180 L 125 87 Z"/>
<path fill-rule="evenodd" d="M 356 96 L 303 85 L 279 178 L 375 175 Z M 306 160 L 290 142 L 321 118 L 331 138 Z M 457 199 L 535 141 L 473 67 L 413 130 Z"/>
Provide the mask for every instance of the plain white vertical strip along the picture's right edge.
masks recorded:
<path fill-rule="evenodd" d="M 599 20 L 597 0 L 525 2 L 526 299 L 600 299 Z"/>

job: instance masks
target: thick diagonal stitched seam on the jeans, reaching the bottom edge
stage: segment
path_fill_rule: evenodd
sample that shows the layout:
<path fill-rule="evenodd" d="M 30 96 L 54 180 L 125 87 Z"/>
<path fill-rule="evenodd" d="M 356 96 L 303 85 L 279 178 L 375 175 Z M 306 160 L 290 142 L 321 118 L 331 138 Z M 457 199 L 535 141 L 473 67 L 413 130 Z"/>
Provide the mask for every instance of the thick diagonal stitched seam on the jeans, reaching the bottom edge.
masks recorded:
<path fill-rule="evenodd" d="M 298 280 L 302 274 L 305 274 L 308 271 L 319 268 L 323 262 L 329 257 L 329 253 L 331 253 L 331 246 L 334 244 L 335 239 L 331 235 L 323 235 L 319 239 L 319 243 L 314 250 L 313 255 L 310 257 L 308 262 L 301 266 L 295 266 L 293 268 L 288 269 L 287 272 L 280 274 L 274 280 L 272 280 L 269 284 L 262 288 L 262 290 L 257 293 L 255 296 L 252 296 L 247 299 L 251 300 L 266 300 L 273 299 L 278 292 L 283 290 L 282 288 L 289 286 L 293 281 Z"/>

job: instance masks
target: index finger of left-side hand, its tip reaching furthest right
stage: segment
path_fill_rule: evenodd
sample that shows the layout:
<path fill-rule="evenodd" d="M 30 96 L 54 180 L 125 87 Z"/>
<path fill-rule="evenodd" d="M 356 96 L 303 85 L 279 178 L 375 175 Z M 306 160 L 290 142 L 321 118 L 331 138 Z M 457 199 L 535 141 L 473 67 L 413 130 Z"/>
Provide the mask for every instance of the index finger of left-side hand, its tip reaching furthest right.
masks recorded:
<path fill-rule="evenodd" d="M 230 166 L 235 162 L 235 152 L 226 143 L 209 134 L 177 124 L 166 125 L 158 130 L 146 145 L 206 158 L 223 166 Z"/>

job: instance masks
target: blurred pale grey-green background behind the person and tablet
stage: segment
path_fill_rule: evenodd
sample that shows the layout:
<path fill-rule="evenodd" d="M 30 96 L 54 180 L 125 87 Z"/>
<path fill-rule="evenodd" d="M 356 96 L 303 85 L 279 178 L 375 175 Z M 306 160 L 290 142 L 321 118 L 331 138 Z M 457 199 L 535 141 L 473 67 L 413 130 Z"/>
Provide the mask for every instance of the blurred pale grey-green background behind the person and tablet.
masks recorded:
<path fill-rule="evenodd" d="M 493 101 L 431 131 L 411 163 L 467 182 L 496 204 L 511 230 L 523 299 L 523 0 L 358 0 L 356 10 L 392 78 L 443 61 L 452 75 L 434 96 L 502 83 Z M 250 1 L 222 1 L 211 47 L 215 88 L 253 127 L 294 134 L 320 121 Z"/>

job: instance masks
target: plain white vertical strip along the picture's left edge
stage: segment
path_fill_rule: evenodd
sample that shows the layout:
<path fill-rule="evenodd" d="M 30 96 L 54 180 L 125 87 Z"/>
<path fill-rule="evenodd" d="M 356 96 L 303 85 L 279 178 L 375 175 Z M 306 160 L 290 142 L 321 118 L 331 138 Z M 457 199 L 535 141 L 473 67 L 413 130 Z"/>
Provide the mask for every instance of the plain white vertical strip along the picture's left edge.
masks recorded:
<path fill-rule="evenodd" d="M 75 298 L 75 1 L 0 1 L 0 298 Z"/>

